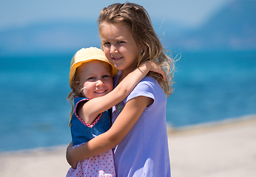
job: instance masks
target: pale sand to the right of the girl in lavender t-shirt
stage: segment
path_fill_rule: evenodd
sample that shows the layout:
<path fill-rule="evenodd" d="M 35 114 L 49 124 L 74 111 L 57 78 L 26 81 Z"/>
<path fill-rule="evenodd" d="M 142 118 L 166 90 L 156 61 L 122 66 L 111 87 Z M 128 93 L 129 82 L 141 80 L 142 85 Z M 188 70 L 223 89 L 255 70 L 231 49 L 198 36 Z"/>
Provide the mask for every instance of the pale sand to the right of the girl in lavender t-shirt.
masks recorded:
<path fill-rule="evenodd" d="M 256 176 L 256 117 L 248 118 L 169 136 L 172 176 Z"/>

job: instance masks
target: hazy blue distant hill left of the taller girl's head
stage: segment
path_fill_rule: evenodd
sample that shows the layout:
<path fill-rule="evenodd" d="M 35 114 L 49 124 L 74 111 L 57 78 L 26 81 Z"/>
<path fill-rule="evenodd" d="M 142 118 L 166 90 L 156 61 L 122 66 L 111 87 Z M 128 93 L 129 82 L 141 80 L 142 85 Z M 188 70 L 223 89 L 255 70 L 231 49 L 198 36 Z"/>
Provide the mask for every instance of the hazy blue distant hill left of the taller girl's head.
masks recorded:
<path fill-rule="evenodd" d="M 0 52 L 36 55 L 100 47 L 96 21 L 54 21 L 0 32 Z"/>

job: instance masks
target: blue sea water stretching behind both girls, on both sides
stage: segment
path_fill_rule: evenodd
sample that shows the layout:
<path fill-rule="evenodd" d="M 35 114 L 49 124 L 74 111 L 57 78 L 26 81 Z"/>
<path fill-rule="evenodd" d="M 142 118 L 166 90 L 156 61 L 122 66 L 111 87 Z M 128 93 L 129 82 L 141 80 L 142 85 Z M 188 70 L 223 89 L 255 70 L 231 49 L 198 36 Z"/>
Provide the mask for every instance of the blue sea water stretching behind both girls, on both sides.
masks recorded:
<path fill-rule="evenodd" d="M 72 57 L 0 57 L 0 151 L 71 141 L 66 97 Z M 181 52 L 179 57 L 166 105 L 170 125 L 256 114 L 256 52 Z"/>

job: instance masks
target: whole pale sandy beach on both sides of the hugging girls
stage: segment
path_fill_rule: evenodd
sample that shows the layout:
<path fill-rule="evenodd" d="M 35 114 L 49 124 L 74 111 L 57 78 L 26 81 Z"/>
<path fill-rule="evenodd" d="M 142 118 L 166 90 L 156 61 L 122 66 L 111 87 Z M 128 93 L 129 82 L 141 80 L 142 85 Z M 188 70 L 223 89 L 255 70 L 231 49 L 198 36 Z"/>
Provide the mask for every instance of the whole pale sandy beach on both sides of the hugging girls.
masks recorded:
<path fill-rule="evenodd" d="M 256 116 L 168 128 L 172 177 L 256 176 Z M 66 176 L 67 145 L 0 153 L 0 176 Z"/>

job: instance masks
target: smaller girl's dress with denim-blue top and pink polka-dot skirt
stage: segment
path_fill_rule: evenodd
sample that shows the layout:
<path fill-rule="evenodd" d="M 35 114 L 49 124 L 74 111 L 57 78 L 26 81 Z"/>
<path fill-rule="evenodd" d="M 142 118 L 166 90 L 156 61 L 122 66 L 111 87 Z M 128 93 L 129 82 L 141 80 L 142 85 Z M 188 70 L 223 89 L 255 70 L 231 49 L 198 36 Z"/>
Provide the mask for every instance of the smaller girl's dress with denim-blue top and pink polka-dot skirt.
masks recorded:
<path fill-rule="evenodd" d="M 73 148 L 83 145 L 90 141 L 95 136 L 106 132 L 110 129 L 110 113 L 104 111 L 92 122 L 87 124 L 78 117 L 78 104 L 87 102 L 89 99 L 84 97 L 75 97 L 75 110 L 70 121 L 71 135 L 73 141 Z M 78 162 L 75 169 L 70 168 L 67 172 L 67 177 L 115 177 L 114 157 L 112 150 L 101 153 L 98 156 L 92 156 L 89 159 L 84 159 Z"/>

